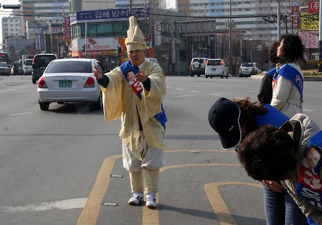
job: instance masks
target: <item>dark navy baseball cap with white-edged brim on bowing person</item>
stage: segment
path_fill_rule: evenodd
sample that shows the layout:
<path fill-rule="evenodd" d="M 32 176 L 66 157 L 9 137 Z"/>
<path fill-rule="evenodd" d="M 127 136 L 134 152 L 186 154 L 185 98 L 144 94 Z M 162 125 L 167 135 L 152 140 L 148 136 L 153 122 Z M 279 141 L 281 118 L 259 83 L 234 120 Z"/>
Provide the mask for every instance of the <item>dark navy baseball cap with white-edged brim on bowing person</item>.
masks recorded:
<path fill-rule="evenodd" d="M 225 150 L 240 143 L 242 134 L 239 117 L 239 106 L 227 98 L 219 98 L 209 109 L 209 124 L 218 133 L 221 146 Z"/>

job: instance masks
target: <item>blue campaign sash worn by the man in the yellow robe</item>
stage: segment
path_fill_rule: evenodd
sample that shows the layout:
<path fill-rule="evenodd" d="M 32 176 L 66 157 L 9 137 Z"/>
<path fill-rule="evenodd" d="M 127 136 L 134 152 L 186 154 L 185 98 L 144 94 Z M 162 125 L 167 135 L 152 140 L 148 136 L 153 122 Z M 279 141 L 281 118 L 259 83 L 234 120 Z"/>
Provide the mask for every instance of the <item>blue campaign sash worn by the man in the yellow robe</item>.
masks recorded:
<path fill-rule="evenodd" d="M 123 76 L 125 77 L 125 79 L 129 82 L 130 81 L 127 77 L 127 72 L 132 70 L 134 72 L 134 74 L 139 73 L 139 68 L 135 67 L 130 60 L 126 61 L 125 63 L 123 63 L 120 67 L 122 70 Z M 131 82 L 132 83 L 132 82 Z M 142 99 L 142 91 L 143 91 L 143 85 L 141 84 L 141 82 L 138 82 L 136 79 L 135 81 L 130 84 L 132 90 L 136 93 L 136 95 L 138 96 L 138 98 L 141 100 Z M 158 114 L 154 115 L 156 117 L 156 119 L 159 121 L 159 123 L 161 123 L 164 131 L 165 131 L 165 123 L 168 122 L 168 119 L 165 115 L 165 112 L 163 110 L 163 106 L 161 103 L 161 112 L 159 112 Z"/>

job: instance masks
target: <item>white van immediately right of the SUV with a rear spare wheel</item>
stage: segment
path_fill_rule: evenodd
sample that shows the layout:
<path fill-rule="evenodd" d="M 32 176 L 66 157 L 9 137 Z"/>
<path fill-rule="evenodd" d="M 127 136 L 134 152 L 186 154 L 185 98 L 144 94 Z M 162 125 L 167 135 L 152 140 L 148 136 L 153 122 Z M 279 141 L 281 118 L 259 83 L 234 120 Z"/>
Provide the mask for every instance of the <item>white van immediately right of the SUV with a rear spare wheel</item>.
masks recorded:
<path fill-rule="evenodd" d="M 208 59 L 206 62 L 206 78 L 219 76 L 221 78 L 228 78 L 229 71 L 226 63 L 222 59 Z"/>

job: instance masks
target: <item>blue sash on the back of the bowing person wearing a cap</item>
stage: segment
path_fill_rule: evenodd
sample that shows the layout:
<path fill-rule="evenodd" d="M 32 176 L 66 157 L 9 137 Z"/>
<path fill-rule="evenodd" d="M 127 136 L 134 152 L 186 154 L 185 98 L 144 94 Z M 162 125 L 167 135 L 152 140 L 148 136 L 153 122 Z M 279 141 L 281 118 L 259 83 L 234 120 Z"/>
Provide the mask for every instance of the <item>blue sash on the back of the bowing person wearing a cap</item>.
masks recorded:
<path fill-rule="evenodd" d="M 275 107 L 271 106 L 270 104 L 266 104 L 263 107 L 267 108 L 267 112 L 263 115 L 255 115 L 254 117 L 255 123 L 259 127 L 265 125 L 272 125 L 278 128 L 290 119 L 283 112 L 279 112 Z"/>

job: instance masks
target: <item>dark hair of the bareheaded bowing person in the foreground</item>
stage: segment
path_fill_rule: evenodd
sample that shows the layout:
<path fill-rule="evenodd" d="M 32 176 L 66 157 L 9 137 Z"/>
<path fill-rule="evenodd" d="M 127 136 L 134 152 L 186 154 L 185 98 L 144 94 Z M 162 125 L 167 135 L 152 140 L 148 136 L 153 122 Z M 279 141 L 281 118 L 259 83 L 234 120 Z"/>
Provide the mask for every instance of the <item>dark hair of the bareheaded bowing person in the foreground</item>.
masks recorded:
<path fill-rule="evenodd" d="M 263 126 L 239 145 L 238 159 L 255 180 L 285 180 L 296 168 L 293 139 L 285 131 Z"/>

